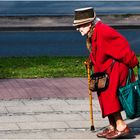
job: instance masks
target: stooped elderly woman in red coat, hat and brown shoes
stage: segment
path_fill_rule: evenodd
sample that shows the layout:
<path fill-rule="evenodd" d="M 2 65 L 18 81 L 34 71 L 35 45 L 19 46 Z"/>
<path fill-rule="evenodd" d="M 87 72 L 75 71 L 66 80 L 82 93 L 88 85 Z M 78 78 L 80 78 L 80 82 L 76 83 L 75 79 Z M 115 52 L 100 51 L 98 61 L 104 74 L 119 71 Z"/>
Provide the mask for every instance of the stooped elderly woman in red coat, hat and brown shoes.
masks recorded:
<path fill-rule="evenodd" d="M 107 139 L 126 136 L 130 129 L 121 116 L 122 107 L 117 94 L 118 88 L 126 84 L 128 69 L 134 68 L 138 59 L 128 41 L 116 30 L 102 23 L 92 7 L 76 9 L 73 25 L 82 36 L 87 35 L 87 48 L 94 72 L 105 71 L 109 75 L 108 88 L 97 91 L 102 117 L 108 117 L 109 126 L 97 136 Z"/>

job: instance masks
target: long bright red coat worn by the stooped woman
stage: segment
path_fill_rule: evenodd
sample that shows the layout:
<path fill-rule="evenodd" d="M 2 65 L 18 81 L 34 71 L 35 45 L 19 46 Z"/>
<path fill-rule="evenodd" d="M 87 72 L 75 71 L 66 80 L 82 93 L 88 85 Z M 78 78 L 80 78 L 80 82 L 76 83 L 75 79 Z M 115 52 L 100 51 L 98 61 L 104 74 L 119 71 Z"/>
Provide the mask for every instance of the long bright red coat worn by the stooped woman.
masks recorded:
<path fill-rule="evenodd" d="M 121 111 L 118 87 L 125 85 L 128 67 L 134 68 L 138 64 L 128 41 L 113 28 L 98 22 L 92 35 L 90 58 L 94 64 L 94 72 L 106 71 L 110 76 L 107 90 L 98 93 L 103 117 Z M 111 70 L 113 60 L 116 61 Z"/>

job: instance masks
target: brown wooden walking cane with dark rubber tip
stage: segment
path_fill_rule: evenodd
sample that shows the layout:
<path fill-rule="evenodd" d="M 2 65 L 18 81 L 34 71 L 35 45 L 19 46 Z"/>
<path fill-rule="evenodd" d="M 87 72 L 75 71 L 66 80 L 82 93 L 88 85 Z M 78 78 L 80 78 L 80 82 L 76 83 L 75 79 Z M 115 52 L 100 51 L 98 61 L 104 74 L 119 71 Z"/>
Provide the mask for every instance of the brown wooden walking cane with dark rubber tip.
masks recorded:
<path fill-rule="evenodd" d="M 91 122 L 91 128 L 90 130 L 95 130 L 94 123 L 93 123 L 93 109 L 92 109 L 92 92 L 89 89 L 90 86 L 90 70 L 91 70 L 91 64 L 87 61 L 84 62 L 86 69 L 87 69 L 87 75 L 88 75 L 88 93 L 89 93 L 89 106 L 90 106 L 90 122 Z"/>

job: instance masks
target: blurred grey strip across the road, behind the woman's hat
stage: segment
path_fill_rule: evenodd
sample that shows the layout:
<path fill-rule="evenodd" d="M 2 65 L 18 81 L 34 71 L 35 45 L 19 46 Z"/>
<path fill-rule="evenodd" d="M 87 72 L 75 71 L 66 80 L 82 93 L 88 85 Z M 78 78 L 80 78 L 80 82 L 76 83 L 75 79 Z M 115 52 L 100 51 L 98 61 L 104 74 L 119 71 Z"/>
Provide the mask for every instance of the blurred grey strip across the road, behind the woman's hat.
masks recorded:
<path fill-rule="evenodd" d="M 98 15 L 98 17 L 110 26 L 140 26 L 140 14 L 118 14 L 118 15 Z M 0 30 L 20 30 L 22 28 L 37 28 L 40 30 L 62 30 L 75 29 L 73 24 L 74 16 L 2 16 L 0 17 Z M 59 29 L 60 28 L 60 29 Z M 130 27 L 129 27 L 130 28 Z"/>

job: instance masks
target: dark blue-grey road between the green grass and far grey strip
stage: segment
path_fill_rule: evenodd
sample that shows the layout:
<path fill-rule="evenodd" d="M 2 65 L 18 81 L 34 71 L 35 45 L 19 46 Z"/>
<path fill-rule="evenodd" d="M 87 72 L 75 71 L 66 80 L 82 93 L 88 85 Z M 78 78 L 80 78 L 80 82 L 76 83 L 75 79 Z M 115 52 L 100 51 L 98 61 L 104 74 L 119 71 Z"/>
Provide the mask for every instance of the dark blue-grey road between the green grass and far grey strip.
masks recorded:
<path fill-rule="evenodd" d="M 140 54 L 140 29 L 119 29 Z M 75 30 L 1 31 L 0 56 L 87 56 L 85 37 Z"/>

